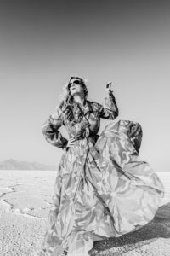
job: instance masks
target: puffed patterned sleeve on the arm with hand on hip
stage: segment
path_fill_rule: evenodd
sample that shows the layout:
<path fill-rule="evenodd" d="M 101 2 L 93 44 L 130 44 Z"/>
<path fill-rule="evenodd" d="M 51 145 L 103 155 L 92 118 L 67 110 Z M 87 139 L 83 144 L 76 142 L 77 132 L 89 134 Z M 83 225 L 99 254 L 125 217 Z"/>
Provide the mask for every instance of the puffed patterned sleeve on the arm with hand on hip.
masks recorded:
<path fill-rule="evenodd" d="M 68 141 L 59 131 L 61 125 L 63 125 L 63 112 L 61 108 L 56 108 L 44 123 L 42 133 L 48 143 L 58 148 L 66 148 Z"/>

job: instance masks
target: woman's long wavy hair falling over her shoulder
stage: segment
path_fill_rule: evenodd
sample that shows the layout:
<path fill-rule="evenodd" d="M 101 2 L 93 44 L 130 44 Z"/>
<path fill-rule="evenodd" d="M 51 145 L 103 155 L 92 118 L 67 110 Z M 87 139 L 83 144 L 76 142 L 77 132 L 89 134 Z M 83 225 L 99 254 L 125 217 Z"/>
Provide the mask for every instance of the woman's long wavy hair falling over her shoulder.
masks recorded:
<path fill-rule="evenodd" d="M 87 85 L 85 84 L 85 81 L 78 76 L 71 76 L 71 78 L 69 79 L 68 83 L 65 85 L 65 92 L 64 95 L 62 97 L 62 101 L 60 103 L 60 108 L 62 108 L 62 111 L 65 115 L 65 119 L 68 119 L 69 121 L 74 119 L 74 115 L 73 115 L 73 108 L 75 105 L 75 102 L 73 101 L 73 96 L 71 96 L 71 90 L 70 90 L 70 83 L 72 79 L 79 79 L 82 85 L 82 89 L 84 91 L 84 99 L 85 101 L 88 98 L 88 88 Z M 77 108 L 79 108 L 77 106 Z M 81 109 L 79 108 L 79 111 L 81 112 Z"/>

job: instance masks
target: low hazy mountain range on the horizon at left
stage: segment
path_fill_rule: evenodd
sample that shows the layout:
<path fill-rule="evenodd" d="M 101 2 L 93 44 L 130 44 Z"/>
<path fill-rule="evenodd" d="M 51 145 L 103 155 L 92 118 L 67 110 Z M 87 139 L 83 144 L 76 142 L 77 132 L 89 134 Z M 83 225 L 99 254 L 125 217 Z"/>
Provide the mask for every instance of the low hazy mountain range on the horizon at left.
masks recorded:
<path fill-rule="evenodd" d="M 0 170 L 42 170 L 42 171 L 55 171 L 56 166 L 47 166 L 37 162 L 25 162 L 18 160 L 4 160 L 0 161 Z"/>

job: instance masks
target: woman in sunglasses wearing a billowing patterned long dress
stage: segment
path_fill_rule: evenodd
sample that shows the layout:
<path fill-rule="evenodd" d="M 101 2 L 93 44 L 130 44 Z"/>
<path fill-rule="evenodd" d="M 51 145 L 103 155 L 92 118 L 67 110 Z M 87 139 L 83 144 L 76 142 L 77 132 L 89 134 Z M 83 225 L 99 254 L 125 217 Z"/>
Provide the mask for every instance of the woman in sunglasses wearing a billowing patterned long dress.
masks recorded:
<path fill-rule="evenodd" d="M 65 100 L 45 122 L 48 143 L 63 148 L 45 235 L 45 254 L 89 255 L 94 241 L 147 224 L 163 195 L 161 181 L 140 160 L 141 126 L 112 121 L 99 136 L 100 118 L 116 119 L 111 83 L 105 105 L 87 100 L 82 78 L 71 77 Z M 69 140 L 59 127 L 65 125 Z"/>

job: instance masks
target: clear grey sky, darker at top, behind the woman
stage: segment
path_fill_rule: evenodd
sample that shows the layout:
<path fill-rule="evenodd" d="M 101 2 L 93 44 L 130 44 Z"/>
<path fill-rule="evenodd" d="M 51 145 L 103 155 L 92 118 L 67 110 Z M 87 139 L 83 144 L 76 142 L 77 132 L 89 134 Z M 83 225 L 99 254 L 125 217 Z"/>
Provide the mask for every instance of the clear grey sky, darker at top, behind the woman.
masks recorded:
<path fill-rule="evenodd" d="M 77 74 L 99 103 L 112 81 L 119 119 L 143 127 L 141 158 L 170 171 L 169 45 L 169 1 L 0 1 L 0 160 L 59 164 L 42 125 Z"/>

